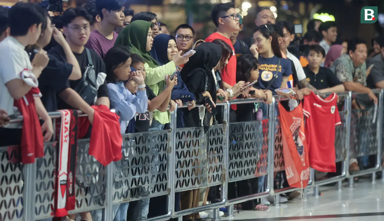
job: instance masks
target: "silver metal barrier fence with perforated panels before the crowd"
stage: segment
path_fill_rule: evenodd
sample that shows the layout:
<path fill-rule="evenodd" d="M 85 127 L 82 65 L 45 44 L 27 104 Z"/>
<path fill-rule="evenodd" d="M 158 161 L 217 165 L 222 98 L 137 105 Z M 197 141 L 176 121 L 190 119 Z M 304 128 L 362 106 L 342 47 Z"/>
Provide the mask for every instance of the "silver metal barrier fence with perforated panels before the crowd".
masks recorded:
<path fill-rule="evenodd" d="M 342 174 L 334 178 L 315 181 L 311 169 L 308 188 L 341 182 L 382 170 L 383 90 L 379 94 L 377 116 L 375 108 L 352 110 L 353 93 L 340 93 L 344 109 L 340 111 L 342 125 L 336 130 L 336 162 L 342 162 Z M 230 104 L 262 102 L 256 99 L 239 99 L 221 104 L 224 122 L 203 128 L 177 128 L 177 111 L 171 114 L 171 129 L 160 132 L 123 135 L 123 159 L 104 167 L 88 155 L 89 139 L 78 141 L 75 174 L 76 209 L 72 214 L 102 210 L 104 221 L 113 220 L 113 206 L 148 197 L 167 195 L 167 213 L 148 221 L 172 218 L 214 210 L 214 220 L 219 219 L 219 208 L 233 204 L 275 196 L 297 190 L 274 189 L 274 174 L 284 171 L 283 144 L 276 104 L 269 105 L 268 119 L 248 122 L 229 122 Z M 53 120 L 58 112 L 50 113 Z M 375 119 L 375 122 L 373 120 Z M 20 122 L 20 117 L 17 122 Z M 16 122 L 13 120 L 12 122 Z M 51 218 L 56 186 L 56 144 L 45 143 L 45 156 L 34 164 L 20 163 L 20 148 L 0 147 L 0 221 L 35 221 Z M 350 158 L 375 155 L 374 168 L 355 174 L 348 171 Z M 266 176 L 266 189 L 261 193 L 228 199 L 228 184 Z M 373 179 L 374 180 L 374 179 Z M 220 186 L 221 201 L 175 211 L 175 193 Z M 305 189 L 305 197 L 307 193 Z M 278 205 L 278 203 L 276 203 Z"/>

